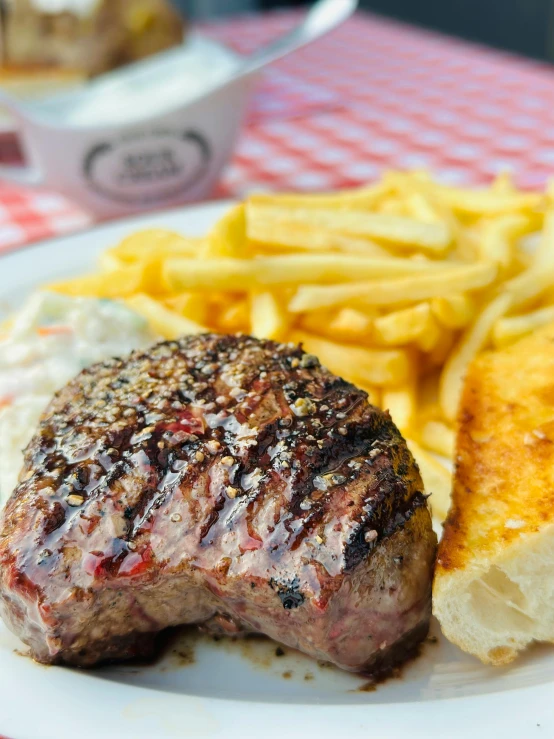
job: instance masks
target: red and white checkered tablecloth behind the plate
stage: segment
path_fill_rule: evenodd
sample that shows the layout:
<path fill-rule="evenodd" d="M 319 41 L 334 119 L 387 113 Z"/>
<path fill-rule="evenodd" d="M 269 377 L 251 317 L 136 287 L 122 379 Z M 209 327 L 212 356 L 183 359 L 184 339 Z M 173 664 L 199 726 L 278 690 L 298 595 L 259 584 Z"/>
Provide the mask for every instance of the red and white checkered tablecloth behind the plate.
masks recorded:
<path fill-rule="evenodd" d="M 242 16 L 202 30 L 247 53 L 298 19 Z M 359 13 L 266 73 L 214 197 L 351 187 L 388 168 L 473 184 L 508 169 L 539 187 L 554 173 L 553 99 L 548 65 Z M 91 222 L 56 193 L 0 183 L 0 251 Z"/>

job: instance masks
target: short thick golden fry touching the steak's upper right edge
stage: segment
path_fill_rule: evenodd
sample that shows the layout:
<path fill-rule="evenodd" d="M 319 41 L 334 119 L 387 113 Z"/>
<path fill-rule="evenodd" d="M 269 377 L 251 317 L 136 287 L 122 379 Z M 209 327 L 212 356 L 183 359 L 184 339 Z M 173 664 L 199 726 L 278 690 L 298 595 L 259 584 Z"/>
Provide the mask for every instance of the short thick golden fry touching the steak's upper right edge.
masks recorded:
<path fill-rule="evenodd" d="M 366 349 L 338 344 L 319 336 L 293 331 L 290 340 L 302 343 L 331 372 L 362 385 L 402 385 L 408 380 L 413 358 L 403 349 Z"/>

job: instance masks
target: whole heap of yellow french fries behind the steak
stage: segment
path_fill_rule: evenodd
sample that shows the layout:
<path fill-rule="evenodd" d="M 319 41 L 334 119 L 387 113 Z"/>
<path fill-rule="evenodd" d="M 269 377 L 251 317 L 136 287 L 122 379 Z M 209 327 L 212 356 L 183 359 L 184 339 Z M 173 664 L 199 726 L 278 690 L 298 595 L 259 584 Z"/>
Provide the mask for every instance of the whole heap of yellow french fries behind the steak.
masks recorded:
<path fill-rule="evenodd" d="M 554 321 L 554 196 L 508 176 L 483 190 L 422 172 L 332 194 L 258 194 L 205 238 L 150 230 L 99 271 L 50 289 L 119 298 L 158 334 L 250 333 L 302 342 L 388 409 L 434 514 L 449 505 L 466 368 Z"/>

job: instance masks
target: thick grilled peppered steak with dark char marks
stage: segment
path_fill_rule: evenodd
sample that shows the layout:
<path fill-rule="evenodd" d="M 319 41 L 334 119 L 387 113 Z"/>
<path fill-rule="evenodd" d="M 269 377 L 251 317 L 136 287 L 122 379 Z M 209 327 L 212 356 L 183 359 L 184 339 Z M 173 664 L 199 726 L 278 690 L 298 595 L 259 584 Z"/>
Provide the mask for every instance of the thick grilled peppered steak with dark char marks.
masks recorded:
<path fill-rule="evenodd" d="M 435 548 L 387 413 L 299 347 L 206 334 L 54 397 L 1 521 L 0 605 L 46 663 L 204 623 L 376 673 L 427 633 Z"/>

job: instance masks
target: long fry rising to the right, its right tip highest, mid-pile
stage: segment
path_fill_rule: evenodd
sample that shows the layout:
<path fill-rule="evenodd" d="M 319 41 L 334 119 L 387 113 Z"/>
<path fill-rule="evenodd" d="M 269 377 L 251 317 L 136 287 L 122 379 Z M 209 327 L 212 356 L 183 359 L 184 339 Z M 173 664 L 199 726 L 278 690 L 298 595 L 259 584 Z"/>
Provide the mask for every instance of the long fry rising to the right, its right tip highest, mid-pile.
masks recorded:
<path fill-rule="evenodd" d="M 477 290 L 490 285 L 497 275 L 493 264 L 460 264 L 436 269 L 428 274 L 345 285 L 303 285 L 289 304 L 293 313 L 360 301 L 366 305 L 387 305 L 399 301 L 419 301 L 443 294 Z"/>

